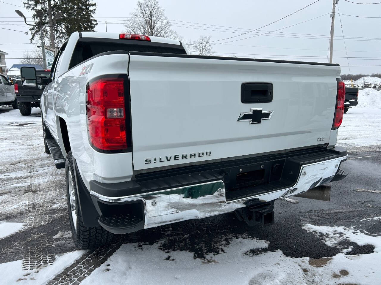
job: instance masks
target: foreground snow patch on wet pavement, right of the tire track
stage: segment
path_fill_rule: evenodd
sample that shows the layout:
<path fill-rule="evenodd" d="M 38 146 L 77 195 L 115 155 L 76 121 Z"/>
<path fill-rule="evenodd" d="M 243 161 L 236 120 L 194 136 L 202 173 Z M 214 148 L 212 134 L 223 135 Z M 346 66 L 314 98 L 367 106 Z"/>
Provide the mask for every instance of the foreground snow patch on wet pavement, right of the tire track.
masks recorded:
<path fill-rule="evenodd" d="M 306 224 L 303 228 L 323 236 L 331 247 L 347 240 L 371 244 L 375 250 L 367 255 L 350 255 L 350 247 L 319 260 L 291 258 L 280 250 L 266 251 L 266 241 L 240 237 L 218 255 L 194 259 L 190 252 L 163 252 L 158 249 L 160 243 L 123 244 L 81 284 L 379 284 L 380 236 L 341 226 Z"/>

